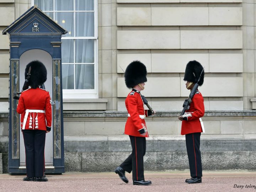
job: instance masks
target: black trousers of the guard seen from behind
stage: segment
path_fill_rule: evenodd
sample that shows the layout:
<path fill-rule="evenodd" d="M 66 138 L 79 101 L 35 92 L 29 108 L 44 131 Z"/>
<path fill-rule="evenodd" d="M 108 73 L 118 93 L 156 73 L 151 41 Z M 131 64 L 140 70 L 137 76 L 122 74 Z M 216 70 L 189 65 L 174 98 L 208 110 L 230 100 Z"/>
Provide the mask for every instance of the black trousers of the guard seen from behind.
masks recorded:
<path fill-rule="evenodd" d="M 45 130 L 22 130 L 28 177 L 43 177 Z"/>

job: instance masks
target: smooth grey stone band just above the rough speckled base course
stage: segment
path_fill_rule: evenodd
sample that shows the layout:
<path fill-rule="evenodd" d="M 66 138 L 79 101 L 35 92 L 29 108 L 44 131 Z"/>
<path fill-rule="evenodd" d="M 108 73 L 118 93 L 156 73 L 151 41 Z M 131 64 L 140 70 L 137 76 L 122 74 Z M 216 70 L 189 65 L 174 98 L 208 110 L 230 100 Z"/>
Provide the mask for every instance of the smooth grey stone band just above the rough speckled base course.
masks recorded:
<path fill-rule="evenodd" d="M 247 139 L 246 139 L 247 138 Z M 184 136 L 154 135 L 147 139 L 149 152 L 186 151 Z M 69 153 L 131 152 L 127 135 L 117 137 L 64 137 L 64 151 Z M 256 135 L 202 135 L 201 151 L 256 151 Z"/>

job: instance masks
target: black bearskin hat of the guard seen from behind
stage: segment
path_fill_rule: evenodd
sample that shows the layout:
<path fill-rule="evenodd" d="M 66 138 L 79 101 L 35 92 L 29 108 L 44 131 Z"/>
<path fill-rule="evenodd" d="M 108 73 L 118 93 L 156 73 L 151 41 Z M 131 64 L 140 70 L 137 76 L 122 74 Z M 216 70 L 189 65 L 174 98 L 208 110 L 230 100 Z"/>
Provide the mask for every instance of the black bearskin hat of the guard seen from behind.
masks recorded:
<path fill-rule="evenodd" d="M 31 72 L 30 72 L 30 79 L 28 81 L 28 84 L 33 88 L 36 89 L 39 85 L 42 85 L 47 80 L 47 70 L 46 67 L 42 62 L 39 62 L 38 60 L 34 60 L 27 64 L 25 69 L 25 79 L 27 78 L 28 69 L 31 66 Z"/>

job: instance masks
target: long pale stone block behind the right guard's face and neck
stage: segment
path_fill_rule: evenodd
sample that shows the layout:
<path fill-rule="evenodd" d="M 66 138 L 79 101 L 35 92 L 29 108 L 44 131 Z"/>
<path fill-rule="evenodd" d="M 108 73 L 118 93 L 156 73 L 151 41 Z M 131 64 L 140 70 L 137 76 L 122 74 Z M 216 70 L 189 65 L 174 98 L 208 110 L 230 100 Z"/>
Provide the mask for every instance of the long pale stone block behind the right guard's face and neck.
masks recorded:
<path fill-rule="evenodd" d="M 225 83 L 223 83 L 225 82 Z M 183 84 L 181 77 L 181 84 Z M 222 86 L 219 86 L 222 85 Z M 236 86 L 233 86 L 236 85 Z M 216 91 L 218 90 L 218 91 Z M 199 91 L 204 97 L 242 97 L 243 78 L 242 77 L 205 77 L 204 84 L 199 87 Z M 189 91 L 185 86 L 181 86 L 181 96 L 187 97 Z"/>

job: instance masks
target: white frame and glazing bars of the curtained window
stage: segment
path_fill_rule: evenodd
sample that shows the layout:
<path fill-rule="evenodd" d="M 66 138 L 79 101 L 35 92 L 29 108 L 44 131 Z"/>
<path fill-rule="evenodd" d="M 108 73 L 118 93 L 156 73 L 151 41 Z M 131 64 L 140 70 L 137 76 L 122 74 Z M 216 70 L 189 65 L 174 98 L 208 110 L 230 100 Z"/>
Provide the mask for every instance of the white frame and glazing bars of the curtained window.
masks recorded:
<path fill-rule="evenodd" d="M 75 8 L 75 0 L 74 8 Z M 34 0 L 31 0 L 31 6 L 34 6 Z M 53 6 L 53 16 L 55 17 L 55 12 L 74 12 L 74 20 L 75 20 L 75 12 L 92 12 L 92 11 L 55 11 Z M 54 18 L 53 18 L 54 20 Z M 74 22 L 75 25 L 75 22 Z M 74 28 L 75 34 L 75 28 Z M 63 89 L 63 98 L 64 99 L 75 99 L 75 98 L 98 98 L 98 0 L 94 0 L 94 37 L 62 37 L 61 39 L 94 39 L 94 89 Z M 75 47 L 74 47 L 74 57 L 75 57 Z M 75 64 L 91 64 L 91 63 L 63 63 L 65 64 L 73 64 L 74 65 L 74 74 L 75 74 Z M 75 83 L 75 79 L 74 79 Z"/>

